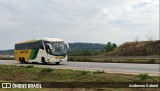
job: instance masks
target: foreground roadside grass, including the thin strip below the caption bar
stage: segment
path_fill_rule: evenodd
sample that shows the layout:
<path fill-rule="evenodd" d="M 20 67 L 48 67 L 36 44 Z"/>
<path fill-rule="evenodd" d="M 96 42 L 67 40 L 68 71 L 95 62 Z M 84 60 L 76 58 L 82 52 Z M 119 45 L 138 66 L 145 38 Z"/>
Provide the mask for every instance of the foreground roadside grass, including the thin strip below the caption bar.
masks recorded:
<path fill-rule="evenodd" d="M 148 74 L 129 75 L 104 71 L 80 71 L 38 68 L 34 66 L 0 65 L 0 82 L 158 82 L 160 77 Z M 0 91 L 159 91 L 145 88 L 43 88 L 0 89 Z"/>

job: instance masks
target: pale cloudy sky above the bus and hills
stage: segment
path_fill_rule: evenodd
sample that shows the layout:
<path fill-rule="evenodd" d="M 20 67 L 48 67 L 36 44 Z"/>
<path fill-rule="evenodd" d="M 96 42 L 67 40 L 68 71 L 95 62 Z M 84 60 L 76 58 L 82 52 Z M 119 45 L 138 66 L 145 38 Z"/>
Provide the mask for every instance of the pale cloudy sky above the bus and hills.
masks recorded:
<path fill-rule="evenodd" d="M 30 39 L 159 40 L 159 0 L 0 0 L 0 50 Z"/>

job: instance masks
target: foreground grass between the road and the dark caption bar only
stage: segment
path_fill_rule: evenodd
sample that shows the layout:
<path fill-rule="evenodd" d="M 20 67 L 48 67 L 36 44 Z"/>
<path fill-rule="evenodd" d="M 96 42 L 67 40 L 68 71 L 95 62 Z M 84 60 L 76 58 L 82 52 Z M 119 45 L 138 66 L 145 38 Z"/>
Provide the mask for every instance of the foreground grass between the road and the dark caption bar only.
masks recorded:
<path fill-rule="evenodd" d="M 0 80 L 19 82 L 158 82 L 159 77 L 146 74 L 129 75 L 104 71 L 80 71 L 38 68 L 31 66 L 0 65 Z"/>

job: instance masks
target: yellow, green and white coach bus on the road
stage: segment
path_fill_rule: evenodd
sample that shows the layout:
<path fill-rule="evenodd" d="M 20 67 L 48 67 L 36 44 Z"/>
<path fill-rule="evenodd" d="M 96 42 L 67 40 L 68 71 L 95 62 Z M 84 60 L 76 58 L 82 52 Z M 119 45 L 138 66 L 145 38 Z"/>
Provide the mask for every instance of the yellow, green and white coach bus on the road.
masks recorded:
<path fill-rule="evenodd" d="M 15 60 L 20 63 L 56 63 L 67 61 L 69 45 L 59 38 L 42 38 L 15 44 Z"/>

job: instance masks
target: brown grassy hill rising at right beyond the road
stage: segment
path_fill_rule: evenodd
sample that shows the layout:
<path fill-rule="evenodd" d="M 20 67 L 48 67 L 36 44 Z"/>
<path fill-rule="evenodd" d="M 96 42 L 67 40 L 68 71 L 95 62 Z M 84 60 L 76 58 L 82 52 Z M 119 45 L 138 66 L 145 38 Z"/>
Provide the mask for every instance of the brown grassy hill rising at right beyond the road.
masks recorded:
<path fill-rule="evenodd" d="M 160 55 L 160 40 L 126 42 L 120 45 L 114 51 L 108 53 L 108 55 L 118 55 L 118 56 Z"/>

